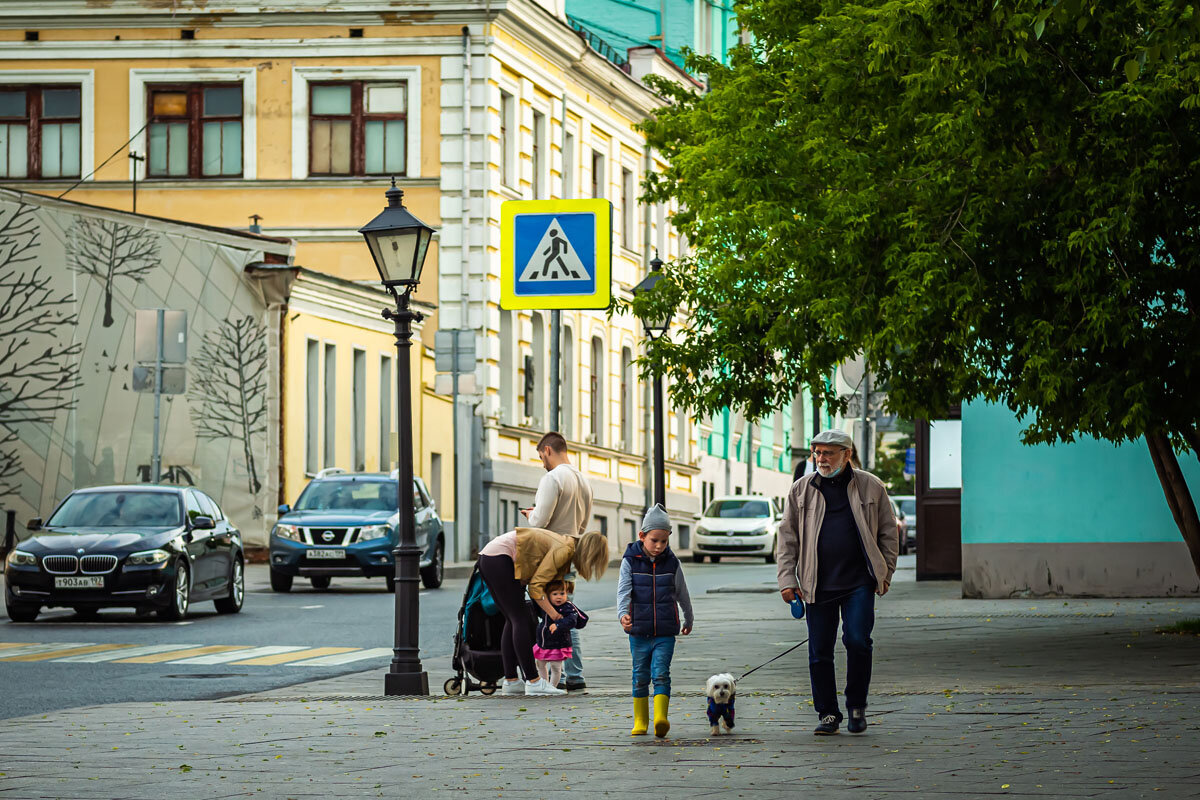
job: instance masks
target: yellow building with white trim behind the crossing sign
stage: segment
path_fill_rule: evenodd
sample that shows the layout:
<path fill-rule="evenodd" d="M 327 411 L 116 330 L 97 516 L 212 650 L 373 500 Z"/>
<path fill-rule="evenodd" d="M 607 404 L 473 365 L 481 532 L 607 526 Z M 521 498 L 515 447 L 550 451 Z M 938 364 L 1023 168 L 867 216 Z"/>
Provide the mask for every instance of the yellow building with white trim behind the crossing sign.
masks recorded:
<path fill-rule="evenodd" d="M 394 343 L 378 317 L 389 301 L 358 229 L 395 176 L 406 206 L 438 229 L 414 295 L 427 312 L 413 350 L 414 467 L 443 518 L 462 522 L 451 558 L 468 558 L 532 499 L 540 475 L 527 449 L 550 425 L 550 313 L 499 308 L 500 204 L 608 198 L 619 295 L 655 248 L 667 259 L 684 246 L 670 209 L 637 203 L 661 167 L 635 128 L 661 103 L 641 77 L 662 59 L 595 46 L 558 0 L 433 1 L 420 13 L 318 0 L 6 7 L 0 184 L 295 241 L 296 269 L 268 312 L 278 318 L 264 320 L 281 338 L 280 501 L 293 503 L 324 467 L 389 467 Z M 434 391 L 439 329 L 475 341 L 456 408 Z M 632 319 L 563 314 L 559 427 L 610 533 L 647 498 L 642 336 Z M 672 509 L 690 522 L 695 426 L 671 419 Z M 624 534 L 611 539 L 619 551 Z"/>

